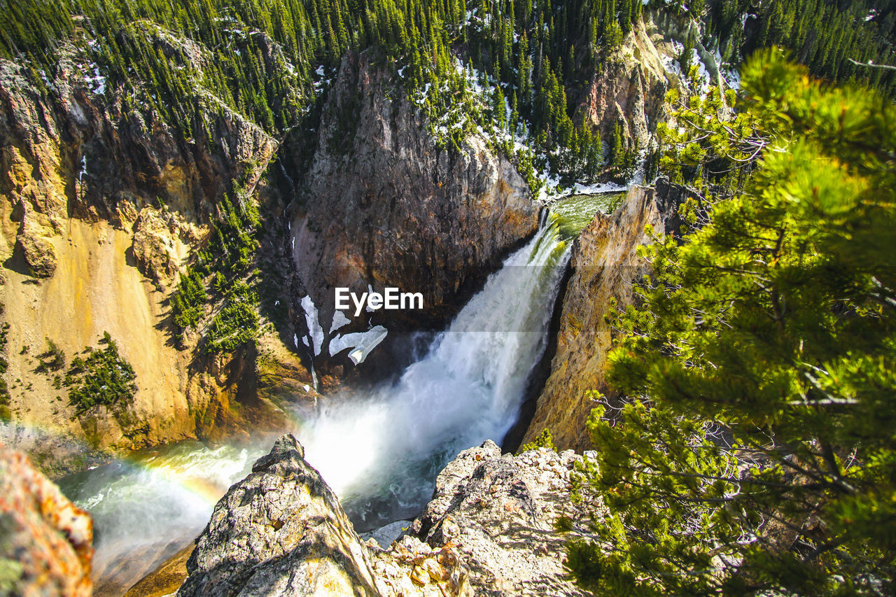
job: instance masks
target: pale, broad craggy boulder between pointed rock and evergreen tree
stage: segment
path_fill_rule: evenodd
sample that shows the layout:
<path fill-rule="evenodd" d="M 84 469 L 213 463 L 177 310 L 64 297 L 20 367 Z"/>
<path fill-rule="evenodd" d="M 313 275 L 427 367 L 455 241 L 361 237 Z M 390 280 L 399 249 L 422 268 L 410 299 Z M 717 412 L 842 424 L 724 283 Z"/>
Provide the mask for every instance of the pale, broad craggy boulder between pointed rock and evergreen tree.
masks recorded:
<path fill-rule="evenodd" d="M 439 473 L 409 532 L 458 554 L 472 594 L 588 594 L 564 569 L 568 536 L 556 531 L 561 517 L 581 517 L 570 501 L 570 473 L 581 460 L 544 448 L 502 455 L 490 440 L 464 450 Z"/>

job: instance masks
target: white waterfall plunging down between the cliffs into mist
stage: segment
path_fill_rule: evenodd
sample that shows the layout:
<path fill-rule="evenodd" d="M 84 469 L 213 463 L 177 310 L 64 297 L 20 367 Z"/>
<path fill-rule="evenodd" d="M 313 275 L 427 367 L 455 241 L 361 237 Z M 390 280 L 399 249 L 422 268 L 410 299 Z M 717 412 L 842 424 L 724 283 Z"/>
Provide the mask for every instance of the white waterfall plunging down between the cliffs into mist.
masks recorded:
<path fill-rule="evenodd" d="M 445 463 L 513 426 L 547 344 L 569 245 L 551 216 L 397 383 L 325 408 L 301 434 L 308 461 L 360 530 L 415 514 Z"/>

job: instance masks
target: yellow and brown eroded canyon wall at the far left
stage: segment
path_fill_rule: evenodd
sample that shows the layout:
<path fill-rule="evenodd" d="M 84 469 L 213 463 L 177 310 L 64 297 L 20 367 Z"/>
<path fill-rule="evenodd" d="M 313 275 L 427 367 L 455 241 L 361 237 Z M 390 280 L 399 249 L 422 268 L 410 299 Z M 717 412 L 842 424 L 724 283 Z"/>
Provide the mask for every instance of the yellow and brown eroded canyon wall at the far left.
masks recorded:
<path fill-rule="evenodd" d="M 144 32 L 171 64 L 206 64 L 192 43 Z M 212 97 L 203 104 L 211 137 L 184 140 L 151 108 L 151 90 L 134 97 L 108 85 L 82 48 L 61 54 L 42 85 L 28 65 L 0 60 L 0 302 L 13 417 L 4 436 L 53 468 L 65 437 L 104 448 L 239 433 L 253 409 L 271 411 L 256 400 L 254 362 L 178 350 L 169 299 L 209 235 L 217 197 L 235 177 L 256 181 L 251 166 L 277 143 Z M 59 378 L 104 332 L 134 367 L 134 402 L 74 417 Z M 55 370 L 41 367 L 49 342 L 65 355 Z M 268 343 L 283 353 L 275 334 Z"/>

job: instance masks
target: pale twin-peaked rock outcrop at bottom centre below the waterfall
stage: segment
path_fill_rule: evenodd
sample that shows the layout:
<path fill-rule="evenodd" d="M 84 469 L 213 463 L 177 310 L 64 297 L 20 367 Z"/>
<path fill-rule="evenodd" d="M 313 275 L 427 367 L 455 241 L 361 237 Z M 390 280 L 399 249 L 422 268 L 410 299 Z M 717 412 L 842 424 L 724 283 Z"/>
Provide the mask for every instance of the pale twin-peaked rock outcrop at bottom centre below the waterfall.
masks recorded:
<path fill-rule="evenodd" d="M 461 452 L 423 515 L 388 549 L 362 542 L 295 437 L 277 440 L 221 498 L 178 597 L 522 595 L 581 592 L 564 573 L 561 516 L 581 456 Z"/>

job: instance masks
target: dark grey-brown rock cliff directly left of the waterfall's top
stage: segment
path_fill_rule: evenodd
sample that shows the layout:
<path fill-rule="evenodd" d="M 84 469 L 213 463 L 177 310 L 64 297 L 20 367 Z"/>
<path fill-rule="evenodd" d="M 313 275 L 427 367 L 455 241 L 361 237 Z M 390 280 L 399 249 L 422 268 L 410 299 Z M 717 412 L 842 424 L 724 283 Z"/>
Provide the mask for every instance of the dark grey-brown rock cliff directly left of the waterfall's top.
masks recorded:
<path fill-rule="evenodd" d="M 440 147 L 423 110 L 372 60 L 342 61 L 292 223 L 324 357 L 334 287 L 421 292 L 423 312 L 381 310 L 374 323 L 441 326 L 538 223 L 528 186 L 504 156 L 476 134 L 461 151 Z M 346 330 L 366 330 L 370 319 L 362 312 Z"/>

